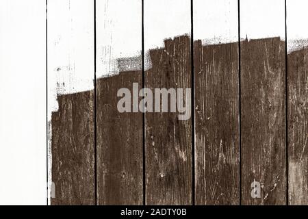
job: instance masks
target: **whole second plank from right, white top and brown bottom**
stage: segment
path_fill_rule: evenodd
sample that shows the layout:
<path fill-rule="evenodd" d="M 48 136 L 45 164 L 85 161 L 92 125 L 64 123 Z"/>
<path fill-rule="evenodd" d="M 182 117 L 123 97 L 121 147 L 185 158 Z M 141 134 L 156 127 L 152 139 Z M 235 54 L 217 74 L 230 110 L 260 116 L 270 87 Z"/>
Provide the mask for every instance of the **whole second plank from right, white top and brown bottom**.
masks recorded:
<path fill-rule="evenodd" d="M 283 0 L 240 1 L 241 37 L 259 38 L 240 51 L 244 205 L 286 203 L 284 18 Z"/>

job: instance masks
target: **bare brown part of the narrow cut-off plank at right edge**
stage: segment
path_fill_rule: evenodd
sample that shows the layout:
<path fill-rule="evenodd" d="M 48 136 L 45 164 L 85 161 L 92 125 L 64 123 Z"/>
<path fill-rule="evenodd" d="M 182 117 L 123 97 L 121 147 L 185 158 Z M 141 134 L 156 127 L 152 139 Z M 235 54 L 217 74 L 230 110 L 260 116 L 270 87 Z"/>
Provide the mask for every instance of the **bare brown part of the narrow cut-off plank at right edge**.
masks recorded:
<path fill-rule="evenodd" d="M 308 49 L 287 55 L 289 204 L 308 205 Z"/>

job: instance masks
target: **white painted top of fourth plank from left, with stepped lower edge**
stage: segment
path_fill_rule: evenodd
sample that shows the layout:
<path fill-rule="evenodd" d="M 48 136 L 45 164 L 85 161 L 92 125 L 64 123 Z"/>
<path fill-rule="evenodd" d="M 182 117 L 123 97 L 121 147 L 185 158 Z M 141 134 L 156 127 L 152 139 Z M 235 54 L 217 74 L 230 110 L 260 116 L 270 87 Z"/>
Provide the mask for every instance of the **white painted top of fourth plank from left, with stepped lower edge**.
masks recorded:
<path fill-rule="evenodd" d="M 144 0 L 144 69 L 151 68 L 149 50 L 164 47 L 166 38 L 191 30 L 190 0 Z"/>

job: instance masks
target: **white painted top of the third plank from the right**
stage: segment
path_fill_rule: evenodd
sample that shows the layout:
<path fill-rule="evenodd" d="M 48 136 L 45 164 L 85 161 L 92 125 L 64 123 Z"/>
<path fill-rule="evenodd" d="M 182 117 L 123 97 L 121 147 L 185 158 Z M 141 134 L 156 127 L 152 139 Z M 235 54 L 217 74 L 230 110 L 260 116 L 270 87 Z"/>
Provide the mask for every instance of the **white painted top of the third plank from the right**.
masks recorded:
<path fill-rule="evenodd" d="M 238 0 L 194 0 L 194 40 L 238 41 Z"/>

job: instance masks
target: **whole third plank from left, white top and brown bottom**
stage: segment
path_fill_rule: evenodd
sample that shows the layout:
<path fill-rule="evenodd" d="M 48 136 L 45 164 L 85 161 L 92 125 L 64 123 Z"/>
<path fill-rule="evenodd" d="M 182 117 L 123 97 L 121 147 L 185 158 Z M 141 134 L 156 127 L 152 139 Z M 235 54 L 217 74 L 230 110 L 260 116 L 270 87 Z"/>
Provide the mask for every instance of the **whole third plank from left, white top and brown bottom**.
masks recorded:
<path fill-rule="evenodd" d="M 118 9 L 125 10 L 118 13 Z M 120 88 L 142 88 L 140 0 L 97 1 L 97 203 L 142 205 L 142 112 L 119 112 Z M 138 106 L 137 106 L 138 107 Z"/>

